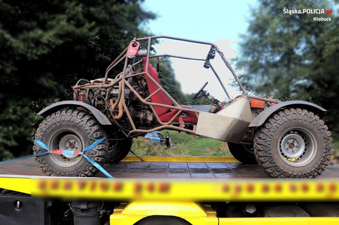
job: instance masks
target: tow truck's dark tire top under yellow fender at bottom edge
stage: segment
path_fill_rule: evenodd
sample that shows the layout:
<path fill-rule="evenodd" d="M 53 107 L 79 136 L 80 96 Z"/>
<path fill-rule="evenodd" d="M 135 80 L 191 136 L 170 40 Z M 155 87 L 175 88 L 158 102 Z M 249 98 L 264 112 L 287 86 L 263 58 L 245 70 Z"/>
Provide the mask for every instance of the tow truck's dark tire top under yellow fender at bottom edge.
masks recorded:
<path fill-rule="evenodd" d="M 136 225 L 189 225 L 186 220 L 176 216 L 148 216 L 141 219 Z"/>

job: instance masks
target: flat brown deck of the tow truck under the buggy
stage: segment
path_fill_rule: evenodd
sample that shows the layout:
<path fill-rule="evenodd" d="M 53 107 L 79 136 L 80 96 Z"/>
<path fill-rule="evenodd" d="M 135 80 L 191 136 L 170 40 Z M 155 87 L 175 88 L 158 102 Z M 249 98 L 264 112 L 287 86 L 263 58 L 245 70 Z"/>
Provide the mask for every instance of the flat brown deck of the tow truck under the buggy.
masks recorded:
<path fill-rule="evenodd" d="M 259 165 L 244 165 L 234 160 L 155 158 L 163 161 L 148 157 L 147 161 L 125 160 L 106 164 L 104 168 L 115 178 L 268 178 Z M 45 176 L 33 158 L 0 163 L 0 175 Z M 105 178 L 105 175 L 99 172 L 96 177 Z M 339 178 L 339 164 L 329 165 L 319 178 Z"/>

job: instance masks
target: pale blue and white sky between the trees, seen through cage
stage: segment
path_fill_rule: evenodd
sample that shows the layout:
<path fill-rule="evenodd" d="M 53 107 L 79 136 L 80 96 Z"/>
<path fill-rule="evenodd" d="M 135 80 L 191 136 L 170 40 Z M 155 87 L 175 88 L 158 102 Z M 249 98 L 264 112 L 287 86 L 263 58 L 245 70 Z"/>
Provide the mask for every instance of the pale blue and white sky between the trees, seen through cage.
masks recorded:
<path fill-rule="evenodd" d="M 248 27 L 250 8 L 257 6 L 256 0 L 146 0 L 143 8 L 157 15 L 155 20 L 146 24 L 147 29 L 155 35 L 169 35 L 181 38 L 213 42 L 227 59 L 239 57 L 241 34 Z M 206 58 L 209 47 L 206 45 L 163 39 L 155 46 L 157 53 L 169 53 L 193 58 Z M 226 94 L 211 69 L 203 67 L 204 62 L 172 58 L 172 67 L 176 79 L 181 83 L 184 93 L 197 92 L 206 81 L 205 90 L 219 100 Z M 211 60 L 211 64 L 227 85 L 231 73 L 220 57 Z M 226 86 L 232 97 L 239 92 Z"/>

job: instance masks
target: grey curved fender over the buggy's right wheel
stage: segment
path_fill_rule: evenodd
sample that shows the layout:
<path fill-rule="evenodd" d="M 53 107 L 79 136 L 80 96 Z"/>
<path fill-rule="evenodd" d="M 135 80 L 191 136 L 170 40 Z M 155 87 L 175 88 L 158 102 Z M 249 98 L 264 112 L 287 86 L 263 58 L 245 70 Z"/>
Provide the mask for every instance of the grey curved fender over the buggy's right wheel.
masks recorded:
<path fill-rule="evenodd" d="M 285 101 L 285 102 L 280 102 L 278 104 L 272 105 L 271 107 L 265 109 L 260 113 L 252 123 L 249 125 L 249 127 L 258 127 L 261 126 L 275 111 L 279 110 L 280 108 L 284 107 L 298 107 L 298 108 L 303 108 L 307 109 L 310 111 L 314 111 L 316 113 L 320 111 L 327 111 L 323 107 L 320 107 L 319 105 L 316 105 L 311 102 L 306 102 L 306 101 Z"/>

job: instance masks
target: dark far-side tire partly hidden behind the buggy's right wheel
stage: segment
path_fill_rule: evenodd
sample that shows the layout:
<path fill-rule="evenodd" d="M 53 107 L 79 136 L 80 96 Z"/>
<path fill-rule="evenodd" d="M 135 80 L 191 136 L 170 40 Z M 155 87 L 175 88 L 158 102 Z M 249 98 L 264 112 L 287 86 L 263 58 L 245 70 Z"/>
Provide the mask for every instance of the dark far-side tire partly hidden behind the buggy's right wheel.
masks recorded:
<path fill-rule="evenodd" d="M 228 149 L 236 160 L 243 164 L 257 164 L 254 156 L 253 145 L 227 143 Z"/>

